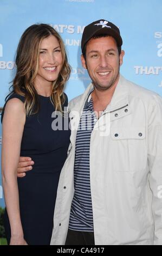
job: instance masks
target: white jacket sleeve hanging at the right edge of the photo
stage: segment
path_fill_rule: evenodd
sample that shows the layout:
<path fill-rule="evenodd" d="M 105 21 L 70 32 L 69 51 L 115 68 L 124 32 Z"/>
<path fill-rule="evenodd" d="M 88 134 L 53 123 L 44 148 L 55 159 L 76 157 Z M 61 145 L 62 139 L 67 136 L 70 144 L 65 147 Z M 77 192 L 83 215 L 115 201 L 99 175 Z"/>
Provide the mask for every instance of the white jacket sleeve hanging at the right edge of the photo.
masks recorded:
<path fill-rule="evenodd" d="M 154 95 L 148 115 L 148 167 L 152 191 L 154 245 L 162 245 L 162 99 Z"/>

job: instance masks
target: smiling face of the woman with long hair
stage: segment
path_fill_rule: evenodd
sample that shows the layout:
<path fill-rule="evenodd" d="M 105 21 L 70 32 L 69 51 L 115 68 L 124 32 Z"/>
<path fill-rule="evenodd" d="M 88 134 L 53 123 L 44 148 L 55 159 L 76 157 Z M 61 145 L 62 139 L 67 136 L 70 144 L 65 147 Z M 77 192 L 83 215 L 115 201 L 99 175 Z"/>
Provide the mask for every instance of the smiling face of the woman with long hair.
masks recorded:
<path fill-rule="evenodd" d="M 42 40 L 39 54 L 36 82 L 52 84 L 59 76 L 63 61 L 59 41 L 54 35 Z"/>

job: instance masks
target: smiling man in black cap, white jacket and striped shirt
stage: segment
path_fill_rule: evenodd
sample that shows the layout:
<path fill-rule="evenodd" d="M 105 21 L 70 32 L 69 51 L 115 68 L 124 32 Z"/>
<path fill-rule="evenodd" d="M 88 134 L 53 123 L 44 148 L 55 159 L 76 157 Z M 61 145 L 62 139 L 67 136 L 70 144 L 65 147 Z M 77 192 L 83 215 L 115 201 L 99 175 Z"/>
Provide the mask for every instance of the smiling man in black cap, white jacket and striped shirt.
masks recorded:
<path fill-rule="evenodd" d="M 51 245 L 162 245 L 162 100 L 120 75 L 121 45 L 113 23 L 85 27 Z"/>

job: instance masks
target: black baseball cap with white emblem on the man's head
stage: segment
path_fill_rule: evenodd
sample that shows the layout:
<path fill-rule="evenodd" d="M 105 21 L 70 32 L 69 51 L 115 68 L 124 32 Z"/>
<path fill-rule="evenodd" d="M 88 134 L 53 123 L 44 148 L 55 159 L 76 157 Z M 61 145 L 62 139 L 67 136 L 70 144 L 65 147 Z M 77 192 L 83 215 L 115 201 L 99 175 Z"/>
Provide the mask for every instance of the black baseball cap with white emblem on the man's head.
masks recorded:
<path fill-rule="evenodd" d="M 116 40 L 118 46 L 122 45 L 122 38 L 120 36 L 119 28 L 113 23 L 106 20 L 98 20 L 87 25 L 83 31 L 81 49 L 85 48 L 87 42 L 93 37 L 101 34 L 111 35 Z"/>

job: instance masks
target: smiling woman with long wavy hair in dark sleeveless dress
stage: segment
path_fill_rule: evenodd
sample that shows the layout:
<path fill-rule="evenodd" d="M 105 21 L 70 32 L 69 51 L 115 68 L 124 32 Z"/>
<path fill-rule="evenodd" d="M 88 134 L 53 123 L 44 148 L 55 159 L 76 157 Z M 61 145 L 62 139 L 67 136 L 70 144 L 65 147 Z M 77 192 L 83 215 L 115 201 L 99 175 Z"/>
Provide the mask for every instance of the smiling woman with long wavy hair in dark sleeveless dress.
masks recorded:
<path fill-rule="evenodd" d="M 16 68 L 2 113 L 5 231 L 10 245 L 49 245 L 70 137 L 68 129 L 52 127 L 54 111 L 66 121 L 63 108 L 68 104 L 63 88 L 70 66 L 60 35 L 46 24 L 27 28 L 18 44 Z M 35 163 L 23 179 L 17 179 L 20 155 Z"/>

